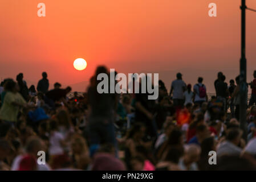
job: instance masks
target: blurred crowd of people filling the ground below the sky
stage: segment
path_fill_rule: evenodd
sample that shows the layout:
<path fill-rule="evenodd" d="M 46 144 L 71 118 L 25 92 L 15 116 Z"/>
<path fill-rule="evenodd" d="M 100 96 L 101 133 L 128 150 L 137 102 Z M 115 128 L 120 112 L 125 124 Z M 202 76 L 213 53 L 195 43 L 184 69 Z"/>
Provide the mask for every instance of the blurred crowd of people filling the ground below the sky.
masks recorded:
<path fill-rule="evenodd" d="M 186 84 L 177 73 L 170 92 L 159 80 L 159 98 L 148 100 L 149 93 L 98 93 L 100 73 L 109 75 L 97 67 L 82 94 L 58 82 L 49 89 L 46 72 L 30 88 L 23 73 L 3 80 L 0 170 L 256 169 L 256 71 L 248 84 L 246 137 L 239 76 L 228 85 L 219 72 L 216 95 L 208 96 L 204 78 Z M 42 152 L 45 163 L 38 162 Z"/>

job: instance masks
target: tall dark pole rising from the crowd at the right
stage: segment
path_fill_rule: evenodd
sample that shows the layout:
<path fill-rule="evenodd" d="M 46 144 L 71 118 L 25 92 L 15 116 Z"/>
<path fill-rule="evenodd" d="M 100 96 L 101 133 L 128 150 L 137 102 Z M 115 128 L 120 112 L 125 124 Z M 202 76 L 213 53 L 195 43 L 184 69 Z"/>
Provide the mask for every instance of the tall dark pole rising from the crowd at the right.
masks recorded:
<path fill-rule="evenodd" d="M 246 127 L 246 109 L 247 109 L 247 84 L 246 84 L 246 57 L 245 57 L 245 0 L 242 0 L 241 5 L 241 60 L 240 60 L 240 108 L 239 121 L 240 128 L 243 130 L 243 139 L 247 138 Z"/>

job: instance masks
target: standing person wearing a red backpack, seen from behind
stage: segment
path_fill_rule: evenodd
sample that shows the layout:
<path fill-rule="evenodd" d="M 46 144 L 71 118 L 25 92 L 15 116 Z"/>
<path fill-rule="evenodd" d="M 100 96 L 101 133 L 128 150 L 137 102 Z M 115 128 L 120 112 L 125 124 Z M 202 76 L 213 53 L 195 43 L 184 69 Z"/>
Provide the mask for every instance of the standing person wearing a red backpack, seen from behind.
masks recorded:
<path fill-rule="evenodd" d="M 194 85 L 194 104 L 202 105 L 203 102 L 208 101 L 206 86 L 202 84 L 204 79 L 202 77 L 198 77 L 198 83 Z"/>

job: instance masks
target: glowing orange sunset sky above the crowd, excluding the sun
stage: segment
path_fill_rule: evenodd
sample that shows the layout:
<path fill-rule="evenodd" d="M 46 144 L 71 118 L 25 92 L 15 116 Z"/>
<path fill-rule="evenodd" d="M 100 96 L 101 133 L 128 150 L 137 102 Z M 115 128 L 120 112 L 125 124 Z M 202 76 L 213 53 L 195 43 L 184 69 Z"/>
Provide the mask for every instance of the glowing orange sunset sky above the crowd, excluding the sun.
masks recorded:
<path fill-rule="evenodd" d="M 46 17 L 37 5 L 46 5 Z M 217 17 L 208 5 L 217 4 Z M 240 0 L 0 0 L 0 77 L 53 84 L 87 81 L 99 64 L 118 72 L 160 73 L 169 88 L 177 71 L 212 91 L 218 71 L 238 75 Z M 247 6 L 256 9 L 255 0 Z M 256 69 L 256 13 L 247 11 L 248 81 Z M 73 62 L 83 57 L 84 71 Z M 166 73 L 170 73 L 166 76 Z M 83 86 L 76 88 L 84 90 Z"/>

